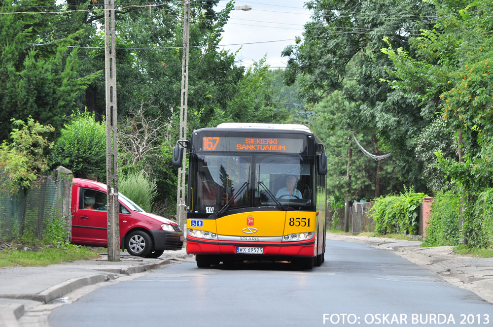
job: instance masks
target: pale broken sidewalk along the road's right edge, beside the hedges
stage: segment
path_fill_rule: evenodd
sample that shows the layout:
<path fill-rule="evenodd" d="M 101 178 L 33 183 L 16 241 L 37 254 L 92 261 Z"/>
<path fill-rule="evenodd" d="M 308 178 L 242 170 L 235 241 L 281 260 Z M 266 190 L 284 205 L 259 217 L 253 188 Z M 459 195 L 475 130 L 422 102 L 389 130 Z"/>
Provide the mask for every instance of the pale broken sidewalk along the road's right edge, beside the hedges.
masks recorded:
<path fill-rule="evenodd" d="M 332 233 L 327 233 L 327 239 L 364 243 L 393 251 L 410 262 L 432 270 L 447 283 L 472 291 L 493 304 L 493 258 L 459 255 L 454 253 L 452 246 L 422 248 L 421 241 Z"/>

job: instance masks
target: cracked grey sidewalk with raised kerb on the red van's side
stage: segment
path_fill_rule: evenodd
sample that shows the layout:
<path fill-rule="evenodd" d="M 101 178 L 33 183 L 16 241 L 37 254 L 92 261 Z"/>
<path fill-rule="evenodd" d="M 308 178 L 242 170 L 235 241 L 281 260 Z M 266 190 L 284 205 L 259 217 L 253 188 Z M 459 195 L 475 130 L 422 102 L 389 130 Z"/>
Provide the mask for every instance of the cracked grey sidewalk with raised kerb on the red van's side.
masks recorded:
<path fill-rule="evenodd" d="M 189 257 L 185 249 L 165 251 L 158 259 L 121 253 L 120 262 L 101 258 L 46 267 L 0 268 L 0 327 L 18 327 L 24 312 L 85 286 L 155 269 Z"/>

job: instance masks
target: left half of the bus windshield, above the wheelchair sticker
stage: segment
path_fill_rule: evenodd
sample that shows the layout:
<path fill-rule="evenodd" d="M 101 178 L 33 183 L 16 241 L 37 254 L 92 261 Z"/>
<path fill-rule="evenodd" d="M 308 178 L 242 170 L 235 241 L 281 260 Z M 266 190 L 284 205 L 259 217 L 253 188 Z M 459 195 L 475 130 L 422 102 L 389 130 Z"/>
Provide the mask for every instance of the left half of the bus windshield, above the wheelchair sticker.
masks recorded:
<path fill-rule="evenodd" d="M 197 159 L 193 212 L 215 213 L 235 195 L 229 208 L 250 205 L 250 188 L 242 190 L 250 179 L 250 157 L 199 155 Z"/>

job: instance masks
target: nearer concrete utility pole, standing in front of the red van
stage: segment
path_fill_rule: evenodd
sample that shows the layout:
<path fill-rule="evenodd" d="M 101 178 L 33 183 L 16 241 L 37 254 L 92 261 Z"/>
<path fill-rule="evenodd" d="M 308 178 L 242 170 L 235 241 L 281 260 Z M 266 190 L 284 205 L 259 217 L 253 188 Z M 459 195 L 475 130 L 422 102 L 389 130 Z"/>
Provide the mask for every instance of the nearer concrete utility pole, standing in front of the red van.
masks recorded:
<path fill-rule="evenodd" d="M 118 146 L 116 135 L 115 1 L 105 0 L 106 185 L 108 261 L 120 261 Z"/>

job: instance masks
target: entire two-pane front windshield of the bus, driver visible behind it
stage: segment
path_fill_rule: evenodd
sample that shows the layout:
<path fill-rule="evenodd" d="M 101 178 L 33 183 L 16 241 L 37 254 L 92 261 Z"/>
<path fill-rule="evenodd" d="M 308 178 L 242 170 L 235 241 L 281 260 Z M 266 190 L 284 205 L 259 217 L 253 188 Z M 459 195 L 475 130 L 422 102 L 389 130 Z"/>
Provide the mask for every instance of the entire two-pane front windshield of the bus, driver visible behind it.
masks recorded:
<path fill-rule="evenodd" d="M 313 205 L 312 159 L 243 153 L 194 157 L 190 167 L 191 213 L 272 206 L 307 210 Z"/>

